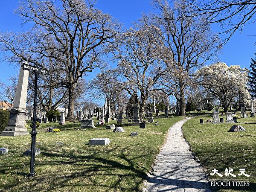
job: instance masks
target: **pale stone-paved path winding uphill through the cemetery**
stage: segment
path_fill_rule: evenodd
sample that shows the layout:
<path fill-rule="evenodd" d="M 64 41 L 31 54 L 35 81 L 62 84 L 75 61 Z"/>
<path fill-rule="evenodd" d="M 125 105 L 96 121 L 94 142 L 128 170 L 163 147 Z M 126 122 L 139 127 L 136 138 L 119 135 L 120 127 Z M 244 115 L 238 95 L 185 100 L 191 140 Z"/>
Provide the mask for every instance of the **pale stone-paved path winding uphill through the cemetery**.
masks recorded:
<path fill-rule="evenodd" d="M 188 119 L 170 128 L 144 191 L 211 192 L 202 167 L 193 159 L 189 145 L 183 138 L 181 127 Z"/>

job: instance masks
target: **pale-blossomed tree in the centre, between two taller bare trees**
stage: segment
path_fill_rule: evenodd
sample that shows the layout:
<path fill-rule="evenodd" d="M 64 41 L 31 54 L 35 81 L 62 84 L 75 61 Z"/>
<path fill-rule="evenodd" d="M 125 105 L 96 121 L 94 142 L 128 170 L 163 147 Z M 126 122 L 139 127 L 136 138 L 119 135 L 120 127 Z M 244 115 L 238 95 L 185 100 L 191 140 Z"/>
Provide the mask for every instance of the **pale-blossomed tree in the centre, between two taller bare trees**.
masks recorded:
<path fill-rule="evenodd" d="M 113 77 L 131 96 L 139 96 L 142 117 L 149 93 L 158 90 L 159 78 L 166 73 L 163 58 L 172 63 L 172 53 L 164 45 L 161 30 L 146 24 L 119 34 L 110 48 L 118 61 Z"/>

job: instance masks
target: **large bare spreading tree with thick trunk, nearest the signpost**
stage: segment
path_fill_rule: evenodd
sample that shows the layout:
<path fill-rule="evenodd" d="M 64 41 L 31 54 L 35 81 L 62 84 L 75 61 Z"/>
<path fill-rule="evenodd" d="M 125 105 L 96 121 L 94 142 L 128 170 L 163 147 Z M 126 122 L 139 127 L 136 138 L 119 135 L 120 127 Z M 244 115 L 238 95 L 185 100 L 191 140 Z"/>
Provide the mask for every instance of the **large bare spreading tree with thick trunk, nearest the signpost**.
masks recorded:
<path fill-rule="evenodd" d="M 85 72 L 103 66 L 104 45 L 118 33 L 118 23 L 84 0 L 24 0 L 16 13 L 34 28 L 23 35 L 29 41 L 21 45 L 3 35 L 3 49 L 32 63 L 34 54 L 57 59 L 65 74 L 59 83 L 69 91 L 67 120 L 73 119 L 77 83 Z"/>

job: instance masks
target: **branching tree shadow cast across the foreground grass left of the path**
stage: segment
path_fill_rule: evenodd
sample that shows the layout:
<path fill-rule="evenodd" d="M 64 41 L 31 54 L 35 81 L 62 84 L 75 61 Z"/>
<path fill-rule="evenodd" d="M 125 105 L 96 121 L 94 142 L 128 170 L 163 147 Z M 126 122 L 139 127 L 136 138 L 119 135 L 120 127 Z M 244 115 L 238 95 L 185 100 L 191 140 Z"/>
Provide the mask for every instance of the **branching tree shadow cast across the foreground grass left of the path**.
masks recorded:
<path fill-rule="evenodd" d="M 42 166 L 55 168 L 55 166 L 58 166 L 59 169 L 41 172 L 32 178 L 25 177 L 22 185 L 26 185 L 26 189 L 23 189 L 17 180 L 14 180 L 13 182 L 6 183 L 3 186 L 3 190 L 36 191 L 38 189 L 37 186 L 47 183 L 42 190 L 81 190 L 82 188 L 79 187 L 85 186 L 87 190 L 140 191 L 139 185 L 145 179 L 148 170 L 138 163 L 138 159 L 151 155 L 149 151 L 143 155 L 129 158 L 128 155 L 125 155 L 127 154 L 128 147 L 122 149 L 118 147 L 113 149 L 106 148 L 104 152 L 92 153 L 93 151 L 89 151 L 90 154 L 61 154 L 59 149 L 53 148 L 49 151 L 49 148 L 43 147 L 41 147 L 41 150 L 43 151 L 41 155 L 48 157 L 49 160 L 47 158 L 44 161 L 36 162 L 35 168 Z M 120 151 L 120 153 L 114 154 L 116 151 Z M 9 166 L 12 166 L 12 169 L 17 169 L 16 175 L 24 176 L 29 173 L 29 170 L 27 173 L 23 172 L 24 169 L 19 170 L 21 165 L 15 162 L 10 162 L 8 166 L 0 166 L 0 173 L 6 174 Z M 67 172 L 66 168 L 64 168 L 66 166 L 67 169 L 70 169 L 70 172 Z M 105 180 L 104 182 L 102 177 L 105 177 L 107 181 Z M 98 179 L 102 181 L 97 183 Z M 111 179 L 111 181 L 108 181 L 108 179 Z M 76 182 L 75 180 L 80 180 L 81 182 Z"/>

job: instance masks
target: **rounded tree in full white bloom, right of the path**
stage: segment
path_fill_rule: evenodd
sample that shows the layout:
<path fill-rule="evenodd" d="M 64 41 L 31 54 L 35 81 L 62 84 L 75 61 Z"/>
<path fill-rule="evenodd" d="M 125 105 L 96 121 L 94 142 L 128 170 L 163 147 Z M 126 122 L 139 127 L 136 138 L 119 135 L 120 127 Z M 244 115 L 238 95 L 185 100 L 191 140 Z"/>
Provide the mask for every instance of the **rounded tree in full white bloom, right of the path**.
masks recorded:
<path fill-rule="evenodd" d="M 228 67 L 225 63 L 218 62 L 199 69 L 197 75 L 198 84 L 221 101 L 225 112 L 235 100 L 239 99 L 247 105 L 250 103 L 246 68 L 241 69 L 239 65 Z"/>

